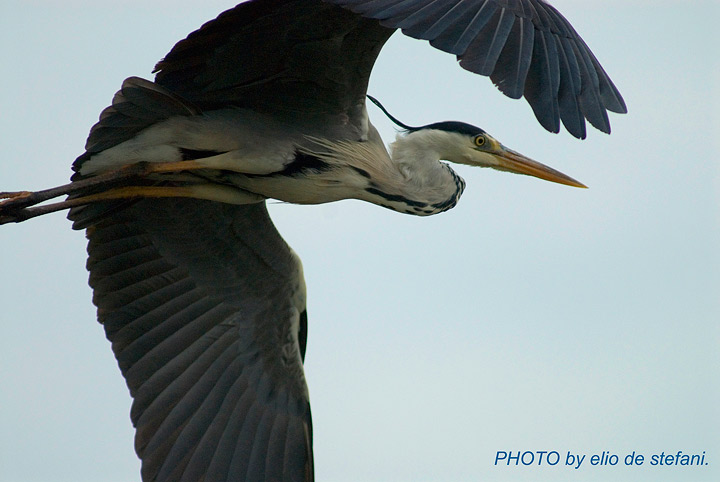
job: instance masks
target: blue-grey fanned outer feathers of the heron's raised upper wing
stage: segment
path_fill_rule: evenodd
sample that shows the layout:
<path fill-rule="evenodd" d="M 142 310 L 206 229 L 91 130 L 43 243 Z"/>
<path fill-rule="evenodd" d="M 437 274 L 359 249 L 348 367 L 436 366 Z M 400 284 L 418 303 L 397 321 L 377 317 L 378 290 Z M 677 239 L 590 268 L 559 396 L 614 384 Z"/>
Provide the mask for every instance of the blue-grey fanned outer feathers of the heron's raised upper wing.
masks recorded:
<path fill-rule="evenodd" d="M 326 0 L 455 54 L 507 96 L 524 95 L 540 124 L 575 137 L 585 119 L 610 132 L 627 112 L 607 73 L 570 23 L 541 0 Z"/>

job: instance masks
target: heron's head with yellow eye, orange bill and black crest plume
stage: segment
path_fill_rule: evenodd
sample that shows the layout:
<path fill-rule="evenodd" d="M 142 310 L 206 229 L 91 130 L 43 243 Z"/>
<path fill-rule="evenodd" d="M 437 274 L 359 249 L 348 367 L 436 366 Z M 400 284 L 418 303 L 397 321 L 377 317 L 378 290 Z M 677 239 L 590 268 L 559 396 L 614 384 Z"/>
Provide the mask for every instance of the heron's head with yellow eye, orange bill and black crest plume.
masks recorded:
<path fill-rule="evenodd" d="M 585 188 L 584 184 L 545 164 L 508 149 L 500 141 L 479 127 L 465 122 L 437 122 L 422 127 L 401 123 L 373 97 L 368 98 L 397 125 L 405 129 L 405 136 L 396 148 L 432 152 L 439 159 L 457 164 L 491 167 L 498 171 L 533 176 L 546 181 Z"/>

